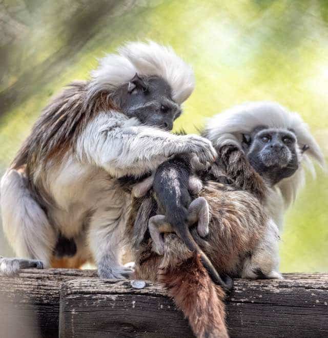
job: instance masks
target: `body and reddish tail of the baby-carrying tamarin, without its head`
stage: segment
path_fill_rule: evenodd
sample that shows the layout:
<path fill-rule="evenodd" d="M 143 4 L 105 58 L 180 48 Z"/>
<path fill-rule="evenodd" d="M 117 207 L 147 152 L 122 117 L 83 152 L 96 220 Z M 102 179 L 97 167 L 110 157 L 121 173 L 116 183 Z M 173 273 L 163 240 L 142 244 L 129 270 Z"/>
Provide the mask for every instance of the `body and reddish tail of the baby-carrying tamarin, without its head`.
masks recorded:
<path fill-rule="evenodd" d="M 201 238 L 196 226 L 190 230 L 219 274 L 279 276 L 278 262 L 272 260 L 276 257 L 272 251 L 278 249 L 277 229 L 254 193 L 208 182 L 197 196 L 206 198 L 210 207 L 209 234 Z M 132 202 L 127 230 L 133 243 L 134 277 L 162 282 L 196 336 L 226 337 L 224 291 L 212 282 L 201 256 L 174 233 L 163 234 L 163 256 L 154 250 L 148 224 L 157 210 L 152 191 Z"/>

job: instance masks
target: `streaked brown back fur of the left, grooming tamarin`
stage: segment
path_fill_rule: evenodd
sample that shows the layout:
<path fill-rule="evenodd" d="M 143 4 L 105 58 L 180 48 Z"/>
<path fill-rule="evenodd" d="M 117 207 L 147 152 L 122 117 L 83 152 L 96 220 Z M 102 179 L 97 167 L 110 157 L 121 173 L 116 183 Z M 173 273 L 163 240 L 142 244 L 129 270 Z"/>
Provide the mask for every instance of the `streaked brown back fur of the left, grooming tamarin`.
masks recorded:
<path fill-rule="evenodd" d="M 30 176 L 36 164 L 45 164 L 49 158 L 74 149 L 77 137 L 97 112 L 114 109 L 110 93 L 89 97 L 87 87 L 87 82 L 73 82 L 53 98 L 14 158 L 12 168 L 27 165 L 26 174 Z"/>

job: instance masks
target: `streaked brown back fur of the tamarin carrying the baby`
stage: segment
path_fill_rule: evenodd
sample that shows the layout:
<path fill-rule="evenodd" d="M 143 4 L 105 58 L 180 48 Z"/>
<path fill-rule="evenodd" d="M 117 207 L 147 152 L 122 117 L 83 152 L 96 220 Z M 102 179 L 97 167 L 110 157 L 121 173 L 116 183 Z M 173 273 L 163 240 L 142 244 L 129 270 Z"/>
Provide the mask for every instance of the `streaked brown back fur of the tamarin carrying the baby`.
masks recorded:
<path fill-rule="evenodd" d="M 208 238 L 203 239 L 193 228 L 192 234 L 219 273 L 235 276 L 241 269 L 244 257 L 251 254 L 262 238 L 267 215 L 251 193 L 226 189 L 216 182 L 209 182 L 199 196 L 206 198 L 210 207 L 210 233 Z M 128 234 L 134 226 L 137 206 L 141 204 L 141 199 L 133 202 L 127 223 L 127 229 L 130 229 Z M 151 239 L 141 243 L 133 253 L 136 276 L 156 280 L 161 256 L 152 251 Z"/>

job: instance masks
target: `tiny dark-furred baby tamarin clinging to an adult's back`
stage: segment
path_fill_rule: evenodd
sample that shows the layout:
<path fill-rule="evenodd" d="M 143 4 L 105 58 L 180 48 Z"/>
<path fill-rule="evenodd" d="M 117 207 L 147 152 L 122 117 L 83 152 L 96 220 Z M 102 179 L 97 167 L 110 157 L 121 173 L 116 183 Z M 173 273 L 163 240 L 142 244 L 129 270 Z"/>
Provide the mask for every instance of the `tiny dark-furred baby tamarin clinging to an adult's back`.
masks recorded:
<path fill-rule="evenodd" d="M 153 240 L 153 249 L 164 254 L 162 233 L 175 232 L 180 240 L 192 252 L 197 252 L 202 264 L 206 267 L 212 280 L 230 289 L 232 280 L 226 276 L 224 280 L 214 269 L 211 261 L 202 252 L 190 234 L 189 226 L 197 223 L 197 233 L 204 237 L 209 232 L 209 207 L 203 197 L 192 201 L 191 191 L 199 193 L 202 185 L 192 176 L 192 157 L 188 154 L 176 155 L 162 163 L 155 172 L 152 183 L 152 196 L 157 210 L 156 215 L 149 219 L 149 233 Z M 146 180 L 146 185 L 151 181 Z M 144 183 L 138 184 L 133 191 L 145 191 Z"/>

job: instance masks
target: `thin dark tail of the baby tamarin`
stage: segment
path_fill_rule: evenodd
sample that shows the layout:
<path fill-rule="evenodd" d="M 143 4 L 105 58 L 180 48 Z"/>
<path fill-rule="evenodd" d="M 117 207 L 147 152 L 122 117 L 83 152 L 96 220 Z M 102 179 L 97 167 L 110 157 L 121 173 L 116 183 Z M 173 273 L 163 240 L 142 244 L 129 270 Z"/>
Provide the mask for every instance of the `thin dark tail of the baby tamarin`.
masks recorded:
<path fill-rule="evenodd" d="M 212 281 L 222 286 L 226 290 L 231 290 L 233 287 L 233 280 L 229 276 L 220 276 L 219 273 L 214 268 L 212 262 L 209 260 L 209 257 L 200 249 L 198 244 L 195 242 L 193 236 L 191 235 L 188 226 L 177 227 L 178 233 L 181 241 L 186 244 L 187 248 L 191 251 L 195 251 L 200 255 L 201 263 L 206 268 L 209 273 Z"/>

